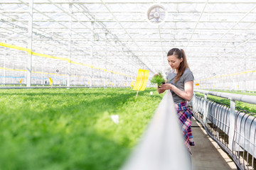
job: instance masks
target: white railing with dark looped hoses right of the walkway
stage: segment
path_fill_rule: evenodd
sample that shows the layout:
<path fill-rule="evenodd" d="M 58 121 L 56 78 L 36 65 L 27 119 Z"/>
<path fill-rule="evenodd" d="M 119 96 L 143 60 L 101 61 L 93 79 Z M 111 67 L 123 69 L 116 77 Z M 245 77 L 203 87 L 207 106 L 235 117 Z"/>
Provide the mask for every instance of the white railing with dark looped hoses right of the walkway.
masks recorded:
<path fill-rule="evenodd" d="M 193 96 L 193 114 L 208 135 L 233 158 L 238 169 L 255 169 L 256 113 L 235 110 L 235 101 L 256 104 L 256 96 L 195 90 L 204 98 Z M 230 99 L 230 107 L 207 99 L 207 94 Z"/>

